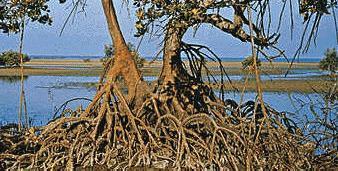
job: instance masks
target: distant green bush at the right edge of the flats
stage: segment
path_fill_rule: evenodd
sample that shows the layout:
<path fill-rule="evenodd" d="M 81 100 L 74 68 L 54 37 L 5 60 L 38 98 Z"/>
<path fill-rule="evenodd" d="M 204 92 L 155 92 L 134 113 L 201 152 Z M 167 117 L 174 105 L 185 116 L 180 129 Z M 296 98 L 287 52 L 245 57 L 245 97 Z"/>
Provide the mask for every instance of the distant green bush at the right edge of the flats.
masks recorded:
<path fill-rule="evenodd" d="M 319 63 L 319 68 L 325 71 L 330 71 L 331 75 L 335 75 L 338 68 L 338 54 L 335 48 L 327 49 L 325 57 Z"/>

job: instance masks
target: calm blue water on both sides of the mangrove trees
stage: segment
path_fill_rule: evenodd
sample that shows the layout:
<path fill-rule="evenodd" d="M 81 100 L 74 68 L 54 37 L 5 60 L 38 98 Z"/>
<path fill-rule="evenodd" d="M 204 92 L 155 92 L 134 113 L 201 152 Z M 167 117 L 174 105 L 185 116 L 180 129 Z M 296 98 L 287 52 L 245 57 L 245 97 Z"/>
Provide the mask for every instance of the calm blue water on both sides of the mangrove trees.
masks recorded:
<path fill-rule="evenodd" d="M 97 82 L 98 77 L 74 77 L 74 76 L 29 76 L 25 78 L 25 91 L 29 118 L 34 125 L 42 125 L 50 120 L 57 108 L 65 101 L 73 98 L 89 98 L 95 94 L 94 87 L 86 87 L 79 83 Z M 20 81 L 17 77 L 0 77 L 0 125 L 8 122 L 17 122 L 19 108 Z M 278 111 L 296 113 L 300 104 L 291 99 L 300 99 L 304 102 L 312 99 L 320 99 L 310 94 L 288 93 L 264 93 L 264 99 Z M 240 100 L 238 93 L 229 92 L 226 98 Z M 248 92 L 244 99 L 253 100 L 255 93 Z M 69 107 L 75 109 L 80 104 L 88 105 L 88 101 L 76 101 Z M 308 112 L 307 109 L 304 109 Z M 304 111 L 300 111 L 302 113 Z"/>

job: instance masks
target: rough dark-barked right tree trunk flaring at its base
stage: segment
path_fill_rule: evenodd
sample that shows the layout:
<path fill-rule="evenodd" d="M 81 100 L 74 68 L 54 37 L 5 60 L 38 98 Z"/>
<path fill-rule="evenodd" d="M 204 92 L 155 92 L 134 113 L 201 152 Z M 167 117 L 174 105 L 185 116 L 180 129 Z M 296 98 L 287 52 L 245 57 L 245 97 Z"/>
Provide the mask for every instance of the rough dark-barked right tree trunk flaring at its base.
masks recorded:
<path fill-rule="evenodd" d="M 211 89 L 193 77 L 184 67 L 181 48 L 185 31 L 186 29 L 168 27 L 158 94 L 154 97 L 159 111 L 171 113 L 179 119 L 198 112 L 208 113 L 206 100 L 214 100 Z"/>

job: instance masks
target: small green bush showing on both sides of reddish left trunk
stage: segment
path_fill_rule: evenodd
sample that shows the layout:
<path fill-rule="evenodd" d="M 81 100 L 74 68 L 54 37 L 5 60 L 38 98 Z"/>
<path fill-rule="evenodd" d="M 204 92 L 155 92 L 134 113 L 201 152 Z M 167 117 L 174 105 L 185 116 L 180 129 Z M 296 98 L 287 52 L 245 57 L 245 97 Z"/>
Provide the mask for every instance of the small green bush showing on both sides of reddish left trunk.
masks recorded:
<path fill-rule="evenodd" d="M 128 42 L 128 49 L 130 51 L 130 53 L 133 55 L 137 67 L 138 68 L 142 68 L 144 65 L 144 62 L 146 61 L 136 50 L 135 46 Z M 101 62 L 106 63 L 108 61 L 109 58 L 111 58 L 112 56 L 115 55 L 115 49 L 113 45 L 105 45 L 104 46 L 104 57 L 101 58 Z"/>

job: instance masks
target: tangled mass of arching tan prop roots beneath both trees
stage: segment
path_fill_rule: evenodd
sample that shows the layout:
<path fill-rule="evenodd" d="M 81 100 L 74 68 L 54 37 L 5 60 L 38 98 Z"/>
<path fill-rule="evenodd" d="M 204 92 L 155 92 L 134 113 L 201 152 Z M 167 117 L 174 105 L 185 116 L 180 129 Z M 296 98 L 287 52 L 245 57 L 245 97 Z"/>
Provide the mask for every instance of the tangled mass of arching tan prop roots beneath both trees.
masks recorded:
<path fill-rule="evenodd" d="M 269 116 L 264 117 L 255 102 L 241 106 L 232 100 L 217 102 L 203 84 L 181 86 L 164 86 L 133 111 L 115 84 L 105 85 L 85 111 L 24 134 L 2 132 L 0 167 L 311 166 L 312 146 L 302 143 L 296 126 L 285 124 L 285 116 L 267 108 Z"/>

